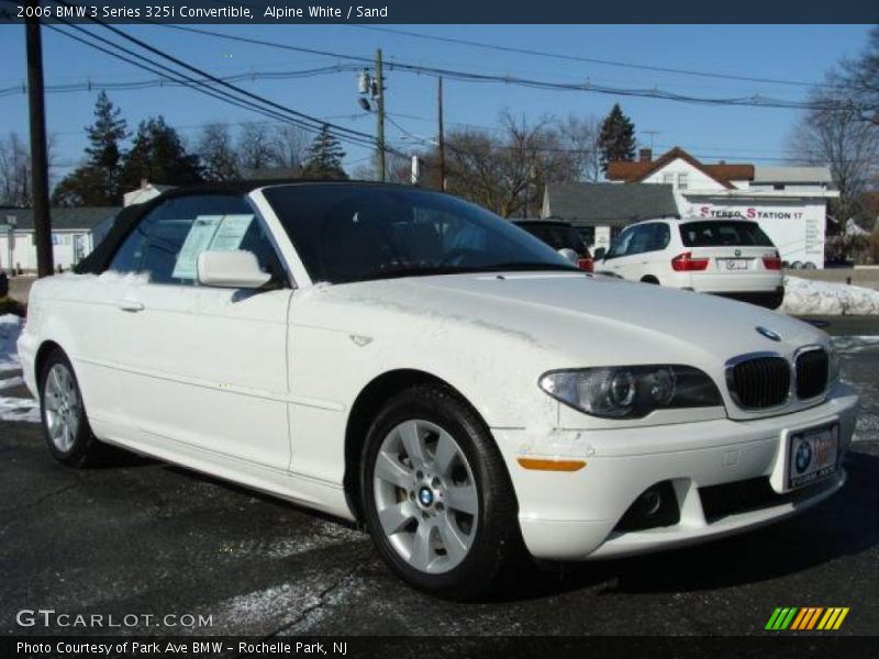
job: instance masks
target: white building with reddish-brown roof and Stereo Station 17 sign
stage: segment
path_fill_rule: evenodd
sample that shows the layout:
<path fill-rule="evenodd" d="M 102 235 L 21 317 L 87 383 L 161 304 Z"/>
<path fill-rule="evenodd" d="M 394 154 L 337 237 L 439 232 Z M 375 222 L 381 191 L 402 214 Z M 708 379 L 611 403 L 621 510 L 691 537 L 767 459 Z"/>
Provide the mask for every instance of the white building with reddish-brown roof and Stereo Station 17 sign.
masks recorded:
<path fill-rule="evenodd" d="M 657 159 L 641 149 L 632 163 L 610 163 L 608 179 L 619 183 L 665 183 L 674 189 L 681 216 L 755 220 L 790 264 L 824 267 L 826 167 L 763 167 L 704 164 L 675 147 Z"/>

